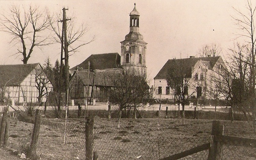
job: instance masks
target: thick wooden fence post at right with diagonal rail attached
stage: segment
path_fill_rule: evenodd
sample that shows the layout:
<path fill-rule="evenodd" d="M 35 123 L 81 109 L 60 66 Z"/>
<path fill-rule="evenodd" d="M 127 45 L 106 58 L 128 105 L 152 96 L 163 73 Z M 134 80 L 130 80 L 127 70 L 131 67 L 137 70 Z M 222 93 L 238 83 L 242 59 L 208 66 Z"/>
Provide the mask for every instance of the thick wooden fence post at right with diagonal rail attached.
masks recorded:
<path fill-rule="evenodd" d="M 224 135 L 225 126 L 220 124 L 220 121 L 212 122 L 212 136 L 211 136 L 211 147 L 207 160 L 221 160 L 222 157 L 222 146 L 221 136 Z"/>

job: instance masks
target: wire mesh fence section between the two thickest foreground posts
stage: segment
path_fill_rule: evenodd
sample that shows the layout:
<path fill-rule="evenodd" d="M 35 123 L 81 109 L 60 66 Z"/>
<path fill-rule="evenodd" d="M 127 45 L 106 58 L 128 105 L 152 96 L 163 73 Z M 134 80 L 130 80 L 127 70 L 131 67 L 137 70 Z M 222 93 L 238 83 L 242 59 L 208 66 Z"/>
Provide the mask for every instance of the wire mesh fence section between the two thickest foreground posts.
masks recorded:
<path fill-rule="evenodd" d="M 171 129 L 173 128 L 169 128 Z M 184 137 L 171 134 L 159 136 L 161 132 L 168 133 L 168 129 L 140 131 L 94 124 L 94 149 L 98 152 L 99 159 L 148 160 L 174 155 L 210 141 L 210 137 Z M 207 151 L 198 152 L 190 158 L 207 159 L 207 155 Z"/>

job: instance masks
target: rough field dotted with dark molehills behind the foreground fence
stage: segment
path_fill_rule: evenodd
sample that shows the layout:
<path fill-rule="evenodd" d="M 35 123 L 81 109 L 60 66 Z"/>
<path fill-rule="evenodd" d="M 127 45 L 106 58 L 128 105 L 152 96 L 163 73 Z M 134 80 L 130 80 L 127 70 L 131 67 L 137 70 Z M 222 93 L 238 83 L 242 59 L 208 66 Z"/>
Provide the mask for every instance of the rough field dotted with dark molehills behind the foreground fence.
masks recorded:
<path fill-rule="evenodd" d="M 225 135 L 256 139 L 251 123 L 244 121 L 220 121 L 226 126 Z M 33 124 L 13 120 L 10 123 L 10 147 L 18 149 L 29 143 Z M 39 152 L 42 159 L 70 159 L 84 152 L 84 118 L 68 120 L 67 145 L 63 145 L 65 119 L 42 118 L 40 127 Z M 94 119 L 95 150 L 100 159 L 140 159 L 166 157 L 193 146 L 210 142 L 212 120 L 163 118 L 122 118 L 120 129 L 116 128 L 117 119 Z M 126 149 L 126 148 L 130 149 Z M 73 149 L 73 150 L 72 150 Z M 175 150 L 176 149 L 176 150 Z M 252 148 L 253 149 L 253 148 Z M 254 159 L 255 149 L 225 146 L 224 159 Z M 18 149 L 19 150 L 19 149 Z M 59 150 L 60 153 L 53 151 Z M 236 150 L 236 152 L 233 152 Z M 3 153 L 2 153 L 3 152 Z M 173 153 L 172 153 L 173 152 Z M 243 157 L 237 157 L 243 153 Z M 207 151 L 185 159 L 205 159 Z M 57 156 L 56 156 L 57 155 Z M 70 156 L 71 157 L 68 157 Z M 64 156 L 64 157 L 62 157 Z M 9 159 L 8 159 L 9 158 Z M 0 160 L 16 160 L 18 156 L 0 148 Z"/>

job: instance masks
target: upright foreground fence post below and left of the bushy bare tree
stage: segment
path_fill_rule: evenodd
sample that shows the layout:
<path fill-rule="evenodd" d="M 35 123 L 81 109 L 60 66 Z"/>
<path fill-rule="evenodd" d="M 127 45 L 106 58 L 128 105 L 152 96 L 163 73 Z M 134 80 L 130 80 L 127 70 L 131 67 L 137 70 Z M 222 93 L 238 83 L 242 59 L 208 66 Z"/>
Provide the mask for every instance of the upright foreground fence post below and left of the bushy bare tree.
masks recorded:
<path fill-rule="evenodd" d="M 93 145 L 94 145 L 93 125 L 94 125 L 94 119 L 88 118 L 85 123 L 85 160 L 93 159 Z"/>

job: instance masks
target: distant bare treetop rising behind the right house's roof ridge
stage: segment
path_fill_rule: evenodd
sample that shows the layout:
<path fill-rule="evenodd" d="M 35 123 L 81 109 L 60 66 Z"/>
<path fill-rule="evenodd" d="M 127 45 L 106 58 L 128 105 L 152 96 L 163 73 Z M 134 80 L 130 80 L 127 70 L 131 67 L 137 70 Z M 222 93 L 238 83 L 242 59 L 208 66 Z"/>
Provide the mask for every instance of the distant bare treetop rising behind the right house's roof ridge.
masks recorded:
<path fill-rule="evenodd" d="M 198 54 L 200 57 L 207 56 L 219 56 L 221 53 L 221 47 L 218 44 L 206 44 L 201 49 L 199 49 Z"/>

